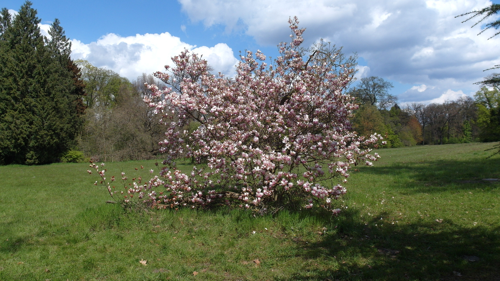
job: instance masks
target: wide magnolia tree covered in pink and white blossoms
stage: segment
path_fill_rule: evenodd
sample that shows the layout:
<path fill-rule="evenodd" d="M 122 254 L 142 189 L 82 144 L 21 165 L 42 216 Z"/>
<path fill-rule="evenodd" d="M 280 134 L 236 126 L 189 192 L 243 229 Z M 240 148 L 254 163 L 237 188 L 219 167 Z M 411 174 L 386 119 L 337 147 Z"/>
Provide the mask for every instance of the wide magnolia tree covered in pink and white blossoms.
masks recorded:
<path fill-rule="evenodd" d="M 119 193 L 99 171 L 111 196 L 153 207 L 317 204 L 337 213 L 332 200 L 345 193 L 349 167 L 372 165 L 378 155 L 369 153 L 382 138 L 352 131 L 357 105 L 345 89 L 354 58 L 322 41 L 300 47 L 305 29 L 296 17 L 288 22 L 291 42 L 278 45 L 280 56 L 267 64 L 260 51 L 247 51 L 232 79 L 211 74 L 207 62 L 187 50 L 172 58 L 175 67 L 165 66 L 167 73 L 155 73 L 171 85 L 148 85 L 152 95 L 144 98 L 166 127 L 159 143 L 164 167 Z M 195 162 L 189 173 L 176 167 L 175 159 L 184 157 Z"/>

